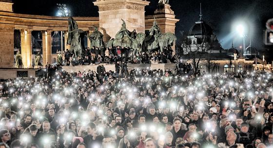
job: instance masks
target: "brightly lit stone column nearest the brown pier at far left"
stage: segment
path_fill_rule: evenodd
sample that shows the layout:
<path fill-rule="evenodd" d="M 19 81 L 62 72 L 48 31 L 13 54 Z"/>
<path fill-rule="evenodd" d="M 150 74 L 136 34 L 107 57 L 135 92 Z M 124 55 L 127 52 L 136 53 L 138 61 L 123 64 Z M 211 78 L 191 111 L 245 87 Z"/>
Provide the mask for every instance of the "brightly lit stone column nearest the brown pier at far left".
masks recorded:
<path fill-rule="evenodd" d="M 21 55 L 24 68 L 32 67 L 31 30 L 21 29 Z"/>

